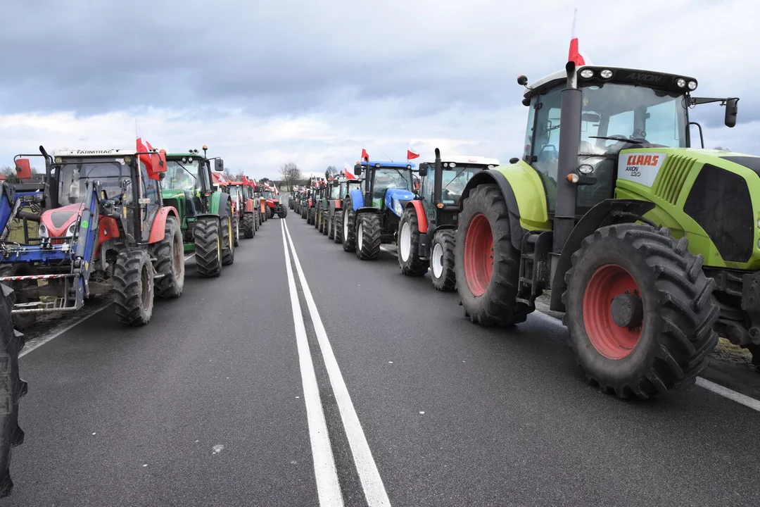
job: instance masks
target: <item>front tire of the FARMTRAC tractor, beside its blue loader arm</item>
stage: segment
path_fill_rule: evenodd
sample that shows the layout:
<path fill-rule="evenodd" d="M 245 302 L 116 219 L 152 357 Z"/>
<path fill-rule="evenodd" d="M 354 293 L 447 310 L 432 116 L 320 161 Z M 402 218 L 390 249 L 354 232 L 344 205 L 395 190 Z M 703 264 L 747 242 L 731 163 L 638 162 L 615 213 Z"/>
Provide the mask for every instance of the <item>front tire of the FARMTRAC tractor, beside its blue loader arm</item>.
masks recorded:
<path fill-rule="evenodd" d="M 113 303 L 119 324 L 146 325 L 153 316 L 154 267 L 145 249 L 119 252 L 113 268 Z"/>

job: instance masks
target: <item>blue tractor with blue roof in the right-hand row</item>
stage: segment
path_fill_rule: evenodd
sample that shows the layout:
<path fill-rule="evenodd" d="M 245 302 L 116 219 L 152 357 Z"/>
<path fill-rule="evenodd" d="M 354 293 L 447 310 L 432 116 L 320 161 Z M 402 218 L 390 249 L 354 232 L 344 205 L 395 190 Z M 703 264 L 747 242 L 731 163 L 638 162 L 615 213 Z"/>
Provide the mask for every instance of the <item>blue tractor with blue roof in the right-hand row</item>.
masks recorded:
<path fill-rule="evenodd" d="M 414 198 L 413 163 L 365 160 L 353 170 L 362 188 L 351 189 L 343 220 L 343 249 L 361 260 L 378 258 L 380 245 L 396 240 L 398 221 Z"/>

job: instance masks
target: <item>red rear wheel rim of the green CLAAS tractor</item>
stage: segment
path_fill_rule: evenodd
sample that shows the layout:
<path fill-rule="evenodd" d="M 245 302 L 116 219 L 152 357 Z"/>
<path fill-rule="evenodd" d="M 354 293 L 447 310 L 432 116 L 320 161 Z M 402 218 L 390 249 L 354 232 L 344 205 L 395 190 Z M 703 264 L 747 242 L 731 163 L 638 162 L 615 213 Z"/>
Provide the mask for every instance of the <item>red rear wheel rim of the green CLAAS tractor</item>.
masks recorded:
<path fill-rule="evenodd" d="M 464 277 L 473 296 L 483 296 L 493 272 L 493 235 L 484 214 L 477 214 L 464 236 Z"/>

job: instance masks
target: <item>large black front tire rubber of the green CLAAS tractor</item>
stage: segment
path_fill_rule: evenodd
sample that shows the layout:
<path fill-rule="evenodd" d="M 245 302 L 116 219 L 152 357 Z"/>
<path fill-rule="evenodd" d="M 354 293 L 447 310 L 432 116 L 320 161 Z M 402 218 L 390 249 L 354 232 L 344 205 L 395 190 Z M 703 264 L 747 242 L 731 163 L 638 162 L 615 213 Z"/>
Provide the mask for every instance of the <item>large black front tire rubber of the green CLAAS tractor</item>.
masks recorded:
<path fill-rule="evenodd" d="M 584 239 L 565 277 L 568 287 L 563 294 L 564 322 L 578 362 L 589 379 L 621 398 L 632 394 L 649 398 L 692 385 L 717 345 L 713 327 L 719 309 L 712 296 L 712 281 L 701 271 L 701 260 L 699 269 L 690 270 L 695 255 L 688 250 L 677 252 L 677 240 L 661 231 L 632 223 L 602 227 Z M 628 356 L 618 360 L 597 351 L 584 324 L 587 283 L 597 268 L 606 264 L 629 271 L 644 305 L 638 343 Z M 692 280 L 687 271 L 695 274 Z M 682 281 L 676 284 L 673 277 Z M 705 290 L 709 293 L 705 294 Z M 698 308 L 696 302 L 700 302 Z M 696 315 L 695 320 L 689 315 Z M 676 334 L 685 335 L 691 344 L 679 341 Z M 670 366 L 673 361 L 679 365 L 675 371 Z"/>

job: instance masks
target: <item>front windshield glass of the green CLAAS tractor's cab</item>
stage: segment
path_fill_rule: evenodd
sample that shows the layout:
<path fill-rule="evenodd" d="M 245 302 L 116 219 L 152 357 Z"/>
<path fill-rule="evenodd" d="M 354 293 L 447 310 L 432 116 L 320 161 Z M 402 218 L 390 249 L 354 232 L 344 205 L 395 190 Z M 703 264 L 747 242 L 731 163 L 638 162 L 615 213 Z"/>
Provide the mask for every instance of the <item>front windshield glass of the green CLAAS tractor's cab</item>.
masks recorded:
<path fill-rule="evenodd" d="M 608 83 L 583 91 L 581 147 L 588 155 L 616 154 L 620 143 L 686 147 L 686 97 L 630 84 Z"/>

